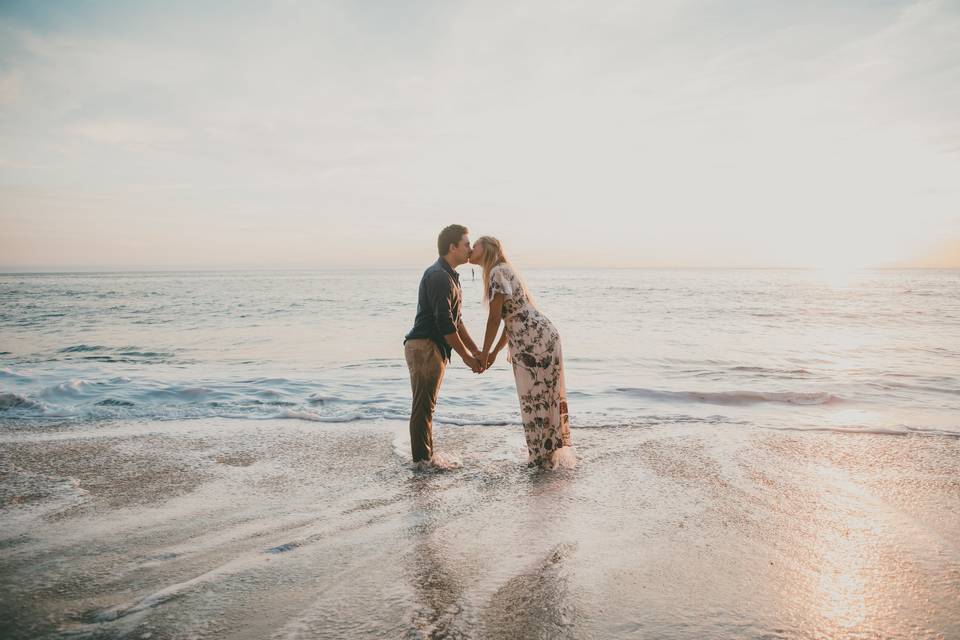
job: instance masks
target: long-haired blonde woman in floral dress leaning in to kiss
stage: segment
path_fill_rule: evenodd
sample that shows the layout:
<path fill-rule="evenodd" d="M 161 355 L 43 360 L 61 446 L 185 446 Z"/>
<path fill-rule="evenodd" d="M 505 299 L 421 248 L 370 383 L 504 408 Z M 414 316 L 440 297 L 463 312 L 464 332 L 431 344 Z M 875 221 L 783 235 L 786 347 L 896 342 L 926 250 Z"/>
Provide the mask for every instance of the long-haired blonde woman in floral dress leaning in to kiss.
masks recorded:
<path fill-rule="evenodd" d="M 572 466 L 560 334 L 533 305 L 499 240 L 477 239 L 470 262 L 483 268 L 483 301 L 490 306 L 480 366 L 489 368 L 504 345 L 510 345 L 508 359 L 517 381 L 530 464 L 548 469 Z M 501 320 L 503 331 L 494 346 Z"/>

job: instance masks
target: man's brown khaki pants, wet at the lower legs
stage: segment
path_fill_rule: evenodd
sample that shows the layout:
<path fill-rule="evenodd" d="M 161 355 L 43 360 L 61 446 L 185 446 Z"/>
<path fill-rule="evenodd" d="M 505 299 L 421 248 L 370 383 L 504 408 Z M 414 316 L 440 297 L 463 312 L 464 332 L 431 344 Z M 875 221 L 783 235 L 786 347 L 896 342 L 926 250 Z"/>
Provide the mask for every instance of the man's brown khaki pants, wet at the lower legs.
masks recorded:
<path fill-rule="evenodd" d="M 433 410 L 447 363 L 440 348 L 427 338 L 407 340 L 404 345 L 413 406 L 410 409 L 410 448 L 413 461 L 429 460 L 433 455 Z"/>

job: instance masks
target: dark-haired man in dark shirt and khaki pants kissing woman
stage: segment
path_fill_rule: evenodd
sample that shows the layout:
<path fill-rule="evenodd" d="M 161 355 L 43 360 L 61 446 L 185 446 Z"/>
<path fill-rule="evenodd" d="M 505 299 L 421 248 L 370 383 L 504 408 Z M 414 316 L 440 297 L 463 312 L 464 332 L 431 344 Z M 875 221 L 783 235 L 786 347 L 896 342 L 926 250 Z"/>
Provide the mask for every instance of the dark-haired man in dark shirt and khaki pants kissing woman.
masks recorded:
<path fill-rule="evenodd" d="M 420 279 L 417 317 L 404 338 L 413 407 L 410 410 L 410 447 L 414 462 L 429 462 L 433 456 L 433 410 L 447 362 L 453 351 L 475 373 L 481 372 L 480 350 L 460 317 L 463 294 L 456 268 L 470 256 L 467 228 L 452 224 L 440 232 L 440 259 L 427 267 Z"/>

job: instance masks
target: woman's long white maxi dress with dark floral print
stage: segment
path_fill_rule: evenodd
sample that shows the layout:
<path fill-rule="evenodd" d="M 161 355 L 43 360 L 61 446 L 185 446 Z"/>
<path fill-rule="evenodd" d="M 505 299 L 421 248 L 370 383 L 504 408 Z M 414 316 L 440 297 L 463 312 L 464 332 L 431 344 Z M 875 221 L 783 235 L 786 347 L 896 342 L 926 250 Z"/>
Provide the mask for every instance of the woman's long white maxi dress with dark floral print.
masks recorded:
<path fill-rule="evenodd" d="M 501 263 L 490 270 L 488 293 L 491 299 L 503 294 L 502 313 L 530 462 L 552 467 L 557 451 L 570 446 L 560 334 L 527 299 L 509 265 Z"/>

